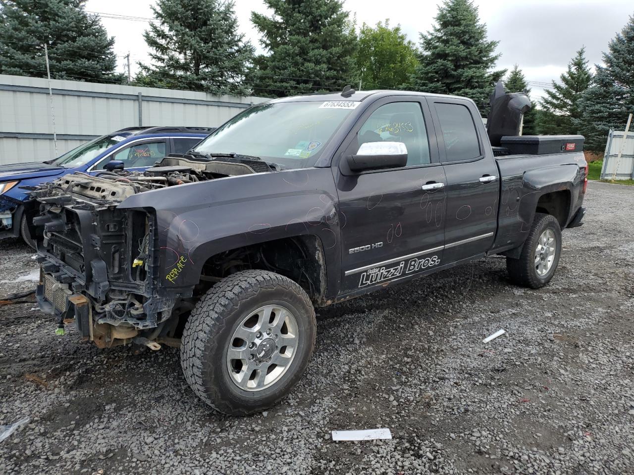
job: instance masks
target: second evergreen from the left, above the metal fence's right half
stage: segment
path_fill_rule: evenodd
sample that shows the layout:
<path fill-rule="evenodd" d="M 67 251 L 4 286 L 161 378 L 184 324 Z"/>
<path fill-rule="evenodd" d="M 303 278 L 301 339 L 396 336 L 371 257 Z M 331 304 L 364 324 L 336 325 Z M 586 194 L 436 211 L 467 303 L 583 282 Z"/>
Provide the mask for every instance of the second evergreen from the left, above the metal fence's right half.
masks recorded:
<path fill-rule="evenodd" d="M 249 94 L 245 73 L 254 47 L 238 33 L 232 1 L 158 0 L 157 23 L 143 34 L 152 65 L 135 82 L 214 94 Z"/>

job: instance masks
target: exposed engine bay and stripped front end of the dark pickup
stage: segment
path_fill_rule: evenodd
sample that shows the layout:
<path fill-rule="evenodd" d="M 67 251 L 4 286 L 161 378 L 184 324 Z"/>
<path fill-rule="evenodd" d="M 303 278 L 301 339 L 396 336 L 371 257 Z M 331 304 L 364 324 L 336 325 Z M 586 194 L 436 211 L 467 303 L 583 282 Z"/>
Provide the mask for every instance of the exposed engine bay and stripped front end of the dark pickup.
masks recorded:
<path fill-rule="evenodd" d="M 193 308 L 191 289 L 157 290 L 153 210 L 118 206 L 138 193 L 274 170 L 248 157 L 167 156 L 145 172 L 77 172 L 30 189 L 40 210 L 33 225 L 42 309 L 58 317 L 61 333 L 72 321 L 98 346 L 169 342 L 178 325 L 170 317 Z"/>

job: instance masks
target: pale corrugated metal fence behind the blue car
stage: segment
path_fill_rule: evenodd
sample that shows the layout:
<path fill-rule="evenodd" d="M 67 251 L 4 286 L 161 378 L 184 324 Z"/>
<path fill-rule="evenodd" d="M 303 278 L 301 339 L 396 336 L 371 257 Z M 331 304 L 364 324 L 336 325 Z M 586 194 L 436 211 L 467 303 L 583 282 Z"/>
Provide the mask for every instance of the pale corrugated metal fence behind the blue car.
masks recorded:
<path fill-rule="evenodd" d="M 217 127 L 250 105 L 268 100 L 55 79 L 51 88 L 57 154 L 48 80 L 0 75 L 0 165 L 49 160 L 124 127 Z"/>

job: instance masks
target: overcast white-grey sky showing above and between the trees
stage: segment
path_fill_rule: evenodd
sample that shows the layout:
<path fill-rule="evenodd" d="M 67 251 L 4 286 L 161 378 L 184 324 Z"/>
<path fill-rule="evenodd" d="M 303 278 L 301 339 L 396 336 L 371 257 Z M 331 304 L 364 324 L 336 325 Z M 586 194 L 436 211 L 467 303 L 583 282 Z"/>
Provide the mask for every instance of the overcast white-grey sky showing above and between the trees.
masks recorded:
<path fill-rule="evenodd" d="M 308 0 L 309 1 L 309 0 Z M 88 0 L 88 11 L 104 14 L 152 18 L 148 0 Z M 356 16 L 358 25 L 374 24 L 390 20 L 391 25 L 400 24 L 408 37 L 418 44 L 418 32 L 432 27 L 437 4 L 440 1 L 386 2 L 385 0 L 345 0 L 344 7 Z M 479 6 L 480 19 L 488 27 L 489 39 L 500 41 L 498 52 L 501 58 L 498 68 L 511 68 L 515 63 L 524 71 L 526 79 L 534 83 L 547 83 L 558 79 L 575 51 L 586 47 L 586 58 L 590 64 L 601 62 L 601 53 L 607 42 L 619 32 L 634 14 L 631 0 L 524 0 L 507 1 L 475 0 Z M 257 31 L 250 21 L 252 10 L 266 12 L 261 0 L 236 0 L 236 15 L 243 32 L 259 51 Z M 147 61 L 147 47 L 143 41 L 143 20 L 122 20 L 102 17 L 108 34 L 115 37 L 115 51 L 120 55 L 119 70 L 123 70 L 131 53 L 132 72 L 136 72 L 136 61 Z M 534 98 L 543 94 L 543 89 L 531 84 Z"/>

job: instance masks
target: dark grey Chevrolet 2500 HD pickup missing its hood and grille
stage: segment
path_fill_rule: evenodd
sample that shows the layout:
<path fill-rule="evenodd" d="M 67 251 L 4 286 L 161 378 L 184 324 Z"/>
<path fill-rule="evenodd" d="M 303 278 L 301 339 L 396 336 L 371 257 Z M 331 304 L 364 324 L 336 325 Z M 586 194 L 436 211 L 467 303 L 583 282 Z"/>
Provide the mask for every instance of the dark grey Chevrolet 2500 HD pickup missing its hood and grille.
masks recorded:
<path fill-rule="evenodd" d="M 179 346 L 221 412 L 274 405 L 309 363 L 315 307 L 491 255 L 548 284 L 588 168 L 583 137 L 519 135 L 528 104 L 498 86 L 487 130 L 460 97 L 275 99 L 145 172 L 34 187 L 40 308 L 100 348 Z"/>

